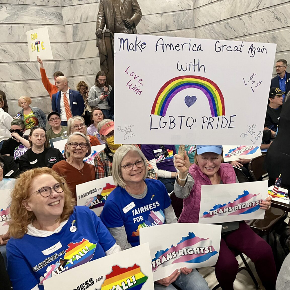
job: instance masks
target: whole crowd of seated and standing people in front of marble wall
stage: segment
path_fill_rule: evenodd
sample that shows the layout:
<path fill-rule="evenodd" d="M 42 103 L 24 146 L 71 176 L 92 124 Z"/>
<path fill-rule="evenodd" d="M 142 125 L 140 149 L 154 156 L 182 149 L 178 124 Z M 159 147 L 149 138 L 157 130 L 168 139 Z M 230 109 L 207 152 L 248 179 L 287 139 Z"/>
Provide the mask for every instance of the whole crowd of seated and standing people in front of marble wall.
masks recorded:
<path fill-rule="evenodd" d="M 93 260 L 138 246 L 138 226 L 132 212 L 123 211 L 128 204 L 148 206 L 154 196 L 159 201 L 155 211 L 164 213 L 160 224 L 177 223 L 168 195 L 174 191 L 177 198 L 183 199 L 178 222 L 198 223 L 201 186 L 238 182 L 233 166 L 247 170 L 249 159 L 224 162 L 222 146 L 186 145 L 184 156 L 180 156 L 179 145 L 174 144 L 142 144 L 140 148 L 137 144 L 115 144 L 114 93 L 106 74 L 99 71 L 91 88 L 79 81 L 77 90 L 73 90 L 62 72 L 55 72 L 52 84 L 43 61 L 37 61 L 51 98 L 52 110 L 47 117 L 41 108 L 30 106 L 30 97 L 18 99 L 22 110 L 11 117 L 4 92 L 0 91 L 0 190 L 9 189 L 12 197 L 9 231 L 0 235 L 0 272 L 7 268 L 14 290 L 44 289 L 47 267 L 39 271 L 33 267 L 46 259 L 44 250 L 56 239 L 62 245 L 59 252 L 71 242 L 90 239 L 98 247 Z M 278 82 L 274 80 L 270 88 L 261 149 L 268 149 L 269 185 L 282 173 L 282 186 L 290 190 L 290 101 L 287 86 L 278 85 L 286 75 L 285 62 L 278 60 L 276 64 Z M 63 136 L 64 155 L 49 143 L 50 139 Z M 91 146 L 100 144 L 105 148 L 95 156 L 93 165 L 85 162 L 84 158 L 91 155 Z M 76 206 L 78 184 L 107 176 L 113 176 L 116 189 L 107 197 L 100 217 L 86 206 Z M 267 197 L 260 208 L 267 211 L 270 207 L 271 197 Z M 149 213 L 142 213 L 143 220 L 148 220 Z M 76 224 L 72 231 L 75 220 L 82 226 Z M 235 226 L 235 230 L 221 237 L 215 265 L 221 288 L 233 290 L 238 272 L 234 249 L 253 261 L 266 290 L 275 289 L 277 273 L 271 247 L 244 221 L 235 222 Z M 289 264 L 288 261 L 289 258 L 285 260 Z M 154 289 L 209 287 L 196 269 L 184 267 L 156 281 Z"/>

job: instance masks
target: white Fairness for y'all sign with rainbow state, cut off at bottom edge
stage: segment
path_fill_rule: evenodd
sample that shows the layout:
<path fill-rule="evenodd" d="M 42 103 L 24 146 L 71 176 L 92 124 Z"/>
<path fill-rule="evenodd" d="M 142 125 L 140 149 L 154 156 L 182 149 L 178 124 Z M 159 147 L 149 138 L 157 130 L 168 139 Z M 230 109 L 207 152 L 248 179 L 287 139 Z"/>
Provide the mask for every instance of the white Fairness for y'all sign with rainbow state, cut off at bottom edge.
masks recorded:
<path fill-rule="evenodd" d="M 44 281 L 45 290 L 153 290 L 148 244 L 82 264 Z"/>

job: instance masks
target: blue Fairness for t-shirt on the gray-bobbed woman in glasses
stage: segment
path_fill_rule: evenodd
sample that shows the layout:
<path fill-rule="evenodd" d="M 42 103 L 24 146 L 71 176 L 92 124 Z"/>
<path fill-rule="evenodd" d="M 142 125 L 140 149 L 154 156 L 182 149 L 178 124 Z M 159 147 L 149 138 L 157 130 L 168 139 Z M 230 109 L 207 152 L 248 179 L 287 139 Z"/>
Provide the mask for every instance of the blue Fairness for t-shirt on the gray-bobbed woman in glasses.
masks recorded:
<path fill-rule="evenodd" d="M 164 209 L 171 204 L 162 182 L 145 179 L 145 183 L 147 194 L 142 199 L 132 197 L 125 189 L 117 186 L 108 196 L 101 213 L 102 222 L 108 228 L 125 227 L 132 247 L 140 244 L 141 228 L 165 223 Z"/>

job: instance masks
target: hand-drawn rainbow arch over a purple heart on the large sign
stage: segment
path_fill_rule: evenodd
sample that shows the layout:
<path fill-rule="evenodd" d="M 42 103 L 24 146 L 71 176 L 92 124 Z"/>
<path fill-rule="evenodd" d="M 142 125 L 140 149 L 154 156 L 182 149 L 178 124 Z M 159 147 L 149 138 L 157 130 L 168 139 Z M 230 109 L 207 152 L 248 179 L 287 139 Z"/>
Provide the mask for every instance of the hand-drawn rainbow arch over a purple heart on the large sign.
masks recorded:
<path fill-rule="evenodd" d="M 200 89 L 209 101 L 211 116 L 224 116 L 224 97 L 220 88 L 210 79 L 196 75 L 183 75 L 167 81 L 157 93 L 152 109 L 152 115 L 165 116 L 173 97 L 187 88 Z"/>

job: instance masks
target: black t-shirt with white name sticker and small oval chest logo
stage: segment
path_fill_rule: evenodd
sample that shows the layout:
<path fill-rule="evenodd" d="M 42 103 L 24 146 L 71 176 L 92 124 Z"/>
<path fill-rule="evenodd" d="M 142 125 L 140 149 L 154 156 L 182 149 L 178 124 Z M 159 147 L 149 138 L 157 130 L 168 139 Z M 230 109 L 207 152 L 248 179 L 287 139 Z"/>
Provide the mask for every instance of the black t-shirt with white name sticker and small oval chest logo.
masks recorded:
<path fill-rule="evenodd" d="M 45 148 L 41 153 L 34 153 L 30 148 L 20 157 L 19 169 L 23 172 L 36 167 L 51 168 L 53 164 L 61 160 L 64 160 L 64 157 L 56 148 Z"/>

